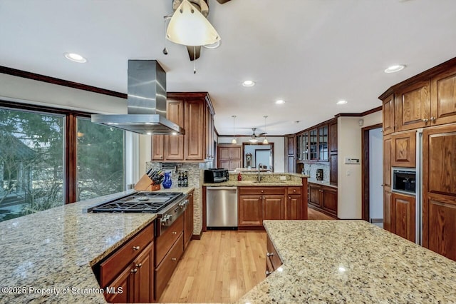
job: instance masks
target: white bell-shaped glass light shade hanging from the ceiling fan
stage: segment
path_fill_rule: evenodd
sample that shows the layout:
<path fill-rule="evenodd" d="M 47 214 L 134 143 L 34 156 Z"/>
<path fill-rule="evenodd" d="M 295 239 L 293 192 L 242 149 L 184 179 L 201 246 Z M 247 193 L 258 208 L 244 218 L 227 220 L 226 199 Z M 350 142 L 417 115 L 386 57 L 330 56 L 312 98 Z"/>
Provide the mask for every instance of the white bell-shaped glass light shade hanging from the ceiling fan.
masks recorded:
<path fill-rule="evenodd" d="M 182 0 L 172 15 L 166 38 L 185 46 L 204 46 L 220 40 L 214 26 L 188 0 Z"/>

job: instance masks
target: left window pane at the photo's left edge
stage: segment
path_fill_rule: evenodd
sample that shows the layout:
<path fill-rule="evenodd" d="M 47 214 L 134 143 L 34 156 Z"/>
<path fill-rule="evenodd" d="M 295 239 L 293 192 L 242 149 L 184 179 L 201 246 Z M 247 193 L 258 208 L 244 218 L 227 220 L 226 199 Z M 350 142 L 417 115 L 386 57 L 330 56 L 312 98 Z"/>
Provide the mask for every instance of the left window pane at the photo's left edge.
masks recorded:
<path fill-rule="evenodd" d="M 0 108 L 0 221 L 63 205 L 63 121 Z"/>

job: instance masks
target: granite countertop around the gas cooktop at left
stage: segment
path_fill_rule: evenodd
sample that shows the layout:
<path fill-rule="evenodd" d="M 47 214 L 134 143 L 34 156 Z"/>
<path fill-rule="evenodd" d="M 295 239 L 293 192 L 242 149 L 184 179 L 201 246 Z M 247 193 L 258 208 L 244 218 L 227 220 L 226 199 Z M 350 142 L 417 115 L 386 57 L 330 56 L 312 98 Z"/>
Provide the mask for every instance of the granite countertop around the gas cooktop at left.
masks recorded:
<path fill-rule="evenodd" d="M 192 191 L 192 187 L 160 192 Z M 125 191 L 0 223 L 0 303 L 105 303 L 91 266 L 151 223 L 153 213 L 83 213 Z M 69 288 L 69 289 L 67 289 Z M 47 289 L 44 293 L 41 290 Z M 63 294 L 65 291 L 66 294 Z"/>

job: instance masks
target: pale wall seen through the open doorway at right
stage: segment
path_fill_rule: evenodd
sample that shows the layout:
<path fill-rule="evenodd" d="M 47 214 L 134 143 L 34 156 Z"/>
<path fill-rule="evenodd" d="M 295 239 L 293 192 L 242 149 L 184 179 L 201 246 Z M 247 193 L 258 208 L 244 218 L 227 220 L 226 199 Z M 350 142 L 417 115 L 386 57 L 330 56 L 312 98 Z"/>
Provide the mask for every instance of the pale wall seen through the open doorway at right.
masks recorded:
<path fill-rule="evenodd" d="M 383 133 L 369 131 L 369 218 L 383 218 Z"/>

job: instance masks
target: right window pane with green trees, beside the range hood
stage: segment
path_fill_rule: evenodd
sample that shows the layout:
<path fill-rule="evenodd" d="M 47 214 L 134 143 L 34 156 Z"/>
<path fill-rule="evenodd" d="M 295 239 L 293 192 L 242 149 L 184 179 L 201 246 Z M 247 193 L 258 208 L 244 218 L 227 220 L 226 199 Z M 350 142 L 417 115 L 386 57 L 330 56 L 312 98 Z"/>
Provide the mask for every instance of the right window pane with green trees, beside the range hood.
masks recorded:
<path fill-rule="evenodd" d="M 76 201 L 124 190 L 124 131 L 77 119 Z"/>

